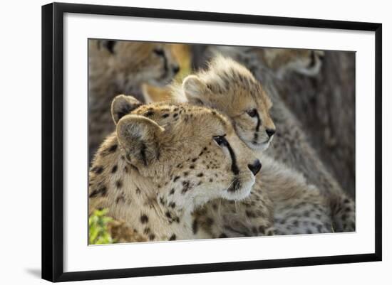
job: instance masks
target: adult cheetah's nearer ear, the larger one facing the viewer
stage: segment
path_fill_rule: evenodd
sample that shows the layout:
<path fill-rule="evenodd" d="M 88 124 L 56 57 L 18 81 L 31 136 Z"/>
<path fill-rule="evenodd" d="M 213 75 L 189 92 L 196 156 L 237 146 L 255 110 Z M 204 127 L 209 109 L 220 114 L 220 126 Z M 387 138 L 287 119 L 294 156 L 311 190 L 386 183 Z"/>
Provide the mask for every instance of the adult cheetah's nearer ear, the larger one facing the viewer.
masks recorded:
<path fill-rule="evenodd" d="M 125 115 L 116 127 L 118 142 L 126 153 L 125 158 L 137 166 L 148 166 L 159 158 L 163 131 L 165 129 L 153 120 L 135 114 Z"/>

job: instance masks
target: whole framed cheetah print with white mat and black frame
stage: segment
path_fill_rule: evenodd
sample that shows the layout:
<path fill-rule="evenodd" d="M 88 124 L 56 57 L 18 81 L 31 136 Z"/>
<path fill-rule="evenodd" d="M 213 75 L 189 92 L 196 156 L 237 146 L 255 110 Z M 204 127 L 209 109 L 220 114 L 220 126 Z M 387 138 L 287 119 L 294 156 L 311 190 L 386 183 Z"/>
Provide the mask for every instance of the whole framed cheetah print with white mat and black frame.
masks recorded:
<path fill-rule="evenodd" d="M 381 260 L 381 23 L 42 7 L 42 277 Z"/>

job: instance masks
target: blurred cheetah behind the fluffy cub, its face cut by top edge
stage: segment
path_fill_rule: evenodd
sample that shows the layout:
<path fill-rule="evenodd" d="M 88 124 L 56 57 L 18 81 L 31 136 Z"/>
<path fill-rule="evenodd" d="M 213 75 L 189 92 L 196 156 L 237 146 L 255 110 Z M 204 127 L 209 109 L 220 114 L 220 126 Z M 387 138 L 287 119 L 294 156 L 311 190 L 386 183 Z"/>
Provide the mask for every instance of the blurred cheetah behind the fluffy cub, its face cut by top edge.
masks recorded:
<path fill-rule="evenodd" d="M 274 139 L 274 146 L 267 150 L 267 154 L 303 173 L 309 183 L 313 183 L 321 190 L 321 194 L 329 201 L 335 232 L 354 232 L 356 230 L 355 201 L 341 188 L 316 150 L 309 144 L 300 122 L 274 86 L 274 77 L 279 77 L 279 70 L 282 70 L 282 75 L 289 71 L 309 76 L 316 75 L 321 68 L 324 53 L 319 50 L 268 48 L 231 48 L 228 53 L 215 48 L 215 51 L 240 60 L 252 70 L 254 76 L 262 80 L 264 87 L 269 90 L 269 96 L 274 103 L 271 115 L 279 127 L 279 136 Z M 275 64 L 270 65 L 269 63 L 272 62 Z M 275 72 L 277 70 L 278 72 Z M 221 104 L 216 108 L 225 112 L 227 106 Z"/>

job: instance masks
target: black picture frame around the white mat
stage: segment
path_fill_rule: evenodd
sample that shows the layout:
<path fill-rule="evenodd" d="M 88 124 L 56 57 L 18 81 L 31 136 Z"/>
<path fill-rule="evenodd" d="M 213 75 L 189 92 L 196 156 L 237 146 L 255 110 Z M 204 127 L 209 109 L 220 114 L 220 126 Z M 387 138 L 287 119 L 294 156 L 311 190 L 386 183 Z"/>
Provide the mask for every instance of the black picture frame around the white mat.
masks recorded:
<path fill-rule="evenodd" d="M 170 18 L 195 21 L 334 28 L 375 33 L 376 70 L 376 230 L 371 254 L 187 264 L 96 271 L 63 271 L 63 16 L 65 13 Z M 111 279 L 134 276 L 187 274 L 209 271 L 300 267 L 319 264 L 381 261 L 381 78 L 382 25 L 351 21 L 285 18 L 199 11 L 144 9 L 122 6 L 54 3 L 42 6 L 42 278 L 48 281 Z"/>

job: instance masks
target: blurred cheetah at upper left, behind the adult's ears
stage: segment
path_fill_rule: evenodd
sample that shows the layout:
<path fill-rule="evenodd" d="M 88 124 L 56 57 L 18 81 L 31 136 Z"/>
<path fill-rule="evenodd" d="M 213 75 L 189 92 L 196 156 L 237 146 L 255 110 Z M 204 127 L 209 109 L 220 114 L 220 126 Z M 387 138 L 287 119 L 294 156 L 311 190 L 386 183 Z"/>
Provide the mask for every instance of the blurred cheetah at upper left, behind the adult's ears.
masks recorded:
<path fill-rule="evenodd" d="M 108 106 L 118 94 L 142 100 L 141 86 L 165 86 L 179 71 L 169 44 L 88 41 L 88 131 L 90 157 L 114 130 Z"/>

